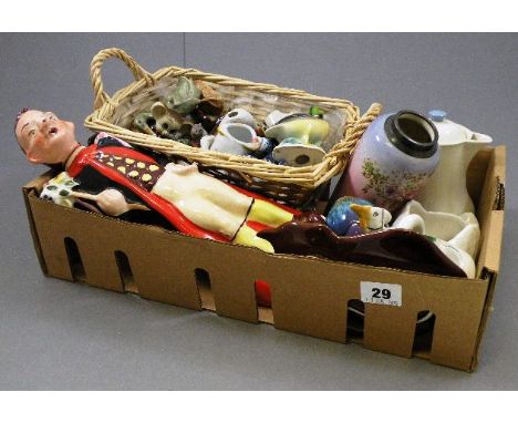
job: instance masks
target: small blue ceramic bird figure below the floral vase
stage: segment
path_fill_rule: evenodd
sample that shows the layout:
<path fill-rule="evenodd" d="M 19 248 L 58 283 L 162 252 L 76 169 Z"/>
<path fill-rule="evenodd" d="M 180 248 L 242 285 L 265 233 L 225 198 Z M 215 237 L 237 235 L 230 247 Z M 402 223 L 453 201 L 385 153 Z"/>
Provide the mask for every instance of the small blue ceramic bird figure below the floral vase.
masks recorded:
<path fill-rule="evenodd" d="M 392 215 L 363 198 L 342 197 L 328 214 L 328 226 L 339 236 L 355 236 L 388 228 Z"/>

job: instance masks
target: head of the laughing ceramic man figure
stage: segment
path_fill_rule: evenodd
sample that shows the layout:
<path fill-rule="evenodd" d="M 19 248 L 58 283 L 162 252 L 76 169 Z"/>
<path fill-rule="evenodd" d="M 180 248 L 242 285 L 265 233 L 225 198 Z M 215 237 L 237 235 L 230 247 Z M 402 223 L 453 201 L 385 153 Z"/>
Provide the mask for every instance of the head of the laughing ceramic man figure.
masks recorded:
<path fill-rule="evenodd" d="M 77 146 L 74 124 L 52 112 L 29 110 L 15 126 L 18 143 L 32 163 L 63 163 Z"/>

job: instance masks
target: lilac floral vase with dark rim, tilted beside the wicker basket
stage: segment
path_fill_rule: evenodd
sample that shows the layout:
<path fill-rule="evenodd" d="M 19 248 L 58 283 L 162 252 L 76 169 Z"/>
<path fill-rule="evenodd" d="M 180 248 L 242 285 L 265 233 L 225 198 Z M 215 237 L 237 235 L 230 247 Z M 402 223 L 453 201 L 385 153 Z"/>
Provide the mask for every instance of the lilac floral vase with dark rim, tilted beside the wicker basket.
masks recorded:
<path fill-rule="evenodd" d="M 361 197 L 395 212 L 414 198 L 439 161 L 437 128 L 413 111 L 379 116 L 363 134 L 333 198 Z"/>

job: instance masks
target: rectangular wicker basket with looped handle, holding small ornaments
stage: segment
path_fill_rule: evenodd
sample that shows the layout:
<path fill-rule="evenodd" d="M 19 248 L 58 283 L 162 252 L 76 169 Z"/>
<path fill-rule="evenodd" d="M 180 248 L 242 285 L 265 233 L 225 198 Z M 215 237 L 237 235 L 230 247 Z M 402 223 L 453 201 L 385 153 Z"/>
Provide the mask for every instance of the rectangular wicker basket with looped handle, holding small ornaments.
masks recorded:
<path fill-rule="evenodd" d="M 103 87 L 101 70 L 110 58 L 122 60 L 133 72 L 135 82 L 108 96 Z M 170 89 L 180 75 L 209 84 L 224 99 L 226 105 L 248 109 L 256 118 L 265 118 L 273 109 L 282 112 L 308 111 L 318 105 L 329 114 L 343 116 L 343 124 L 335 125 L 334 138 L 324 159 L 312 166 L 289 167 L 269 162 L 210 152 L 185 144 L 159 138 L 131 130 L 134 112 L 144 110 Z M 92 60 L 91 79 L 94 90 L 94 112 L 86 117 L 85 126 L 93 131 L 108 132 L 133 145 L 153 148 L 188 162 L 197 162 L 205 172 L 231 184 L 260 192 L 278 202 L 300 207 L 308 204 L 334 175 L 342 172 L 369 124 L 380 114 L 381 105 L 374 103 L 361 116 L 359 107 L 345 100 L 322 97 L 300 90 L 255 83 L 239 79 L 200 72 L 194 69 L 169 66 L 155 73 L 145 71 L 132 56 L 120 49 L 100 51 Z"/>

